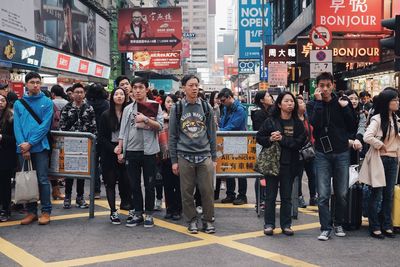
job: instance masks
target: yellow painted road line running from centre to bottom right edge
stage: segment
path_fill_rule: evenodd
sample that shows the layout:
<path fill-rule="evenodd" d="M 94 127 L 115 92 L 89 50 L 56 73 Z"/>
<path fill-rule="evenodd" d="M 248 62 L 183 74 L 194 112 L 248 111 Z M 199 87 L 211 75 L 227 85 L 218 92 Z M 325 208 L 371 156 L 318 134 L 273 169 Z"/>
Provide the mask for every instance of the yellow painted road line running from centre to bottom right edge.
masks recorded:
<path fill-rule="evenodd" d="M 250 246 L 250 245 L 246 245 L 246 244 L 241 244 L 239 242 L 235 242 L 235 241 L 221 241 L 220 243 L 223 246 L 229 247 L 229 248 L 233 248 L 242 252 L 245 252 L 247 254 L 250 255 L 254 255 L 266 260 L 270 260 L 270 261 L 274 261 L 277 262 L 279 264 L 284 264 L 284 265 L 288 265 L 288 266 L 306 266 L 306 267 L 315 267 L 318 265 L 314 265 L 305 261 L 301 261 L 301 260 L 297 260 L 285 255 L 281 255 L 278 253 L 274 253 L 274 252 L 270 252 L 267 250 L 263 250 L 254 246 Z M 267 264 L 266 264 L 267 266 Z"/>

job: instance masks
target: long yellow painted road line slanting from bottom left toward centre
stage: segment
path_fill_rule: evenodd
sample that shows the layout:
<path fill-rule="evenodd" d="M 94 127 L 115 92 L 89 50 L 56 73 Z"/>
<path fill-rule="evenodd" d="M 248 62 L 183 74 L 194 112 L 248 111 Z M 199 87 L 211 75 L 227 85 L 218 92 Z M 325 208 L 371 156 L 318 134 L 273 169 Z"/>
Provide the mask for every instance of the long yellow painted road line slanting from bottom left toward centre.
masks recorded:
<path fill-rule="evenodd" d="M 46 266 L 52 266 L 52 267 L 53 266 L 54 267 L 56 267 L 56 266 L 81 266 L 81 265 L 94 264 L 94 263 L 100 263 L 100 262 L 123 260 L 123 259 L 128 259 L 128 258 L 133 258 L 133 257 L 139 257 L 139 256 L 153 255 L 153 254 L 164 253 L 164 252 L 178 251 L 178 250 L 189 249 L 189 248 L 196 248 L 196 247 L 206 246 L 206 245 L 210 245 L 210 244 L 213 244 L 213 242 L 207 241 L 207 240 L 199 240 L 199 241 L 192 241 L 192 242 L 186 242 L 186 243 L 180 243 L 180 244 L 174 244 L 174 245 L 166 245 L 166 246 L 160 246 L 160 247 L 152 247 L 152 248 L 138 249 L 138 250 L 133 250 L 133 251 L 112 253 L 112 254 L 106 254 L 106 255 L 101 255 L 101 256 L 52 262 L 52 263 L 48 263 Z"/>

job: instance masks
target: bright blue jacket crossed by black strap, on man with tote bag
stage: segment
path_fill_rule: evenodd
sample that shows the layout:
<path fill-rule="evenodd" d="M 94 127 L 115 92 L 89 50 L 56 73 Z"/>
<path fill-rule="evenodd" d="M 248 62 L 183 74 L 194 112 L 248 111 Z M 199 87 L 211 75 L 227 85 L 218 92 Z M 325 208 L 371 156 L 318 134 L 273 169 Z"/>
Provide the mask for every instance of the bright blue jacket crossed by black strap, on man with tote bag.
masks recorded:
<path fill-rule="evenodd" d="M 20 101 L 14 104 L 14 133 L 17 141 L 17 153 L 21 153 L 19 145 L 28 142 L 31 144 L 31 153 L 49 150 L 47 133 L 53 118 L 53 102 L 42 92 L 35 96 L 24 95 L 23 98 L 33 111 L 42 120 L 39 125 Z"/>

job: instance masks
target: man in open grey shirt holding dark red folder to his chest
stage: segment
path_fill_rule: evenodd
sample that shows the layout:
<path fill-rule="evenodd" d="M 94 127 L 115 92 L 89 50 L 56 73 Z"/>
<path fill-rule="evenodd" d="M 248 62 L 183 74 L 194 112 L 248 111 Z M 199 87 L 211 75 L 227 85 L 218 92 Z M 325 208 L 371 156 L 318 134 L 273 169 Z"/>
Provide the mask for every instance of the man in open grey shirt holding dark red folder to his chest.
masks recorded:
<path fill-rule="evenodd" d="M 164 117 L 161 106 L 147 98 L 150 89 L 146 79 L 133 79 L 132 87 L 135 100 L 123 111 L 119 144 L 116 150 L 118 159 L 125 160 L 133 193 L 126 226 L 133 227 L 144 224 L 144 227 L 153 227 L 156 155 L 160 152 L 158 132 L 163 127 Z M 141 186 L 142 171 L 145 187 L 144 210 Z M 143 219 L 144 213 L 145 218 Z"/>

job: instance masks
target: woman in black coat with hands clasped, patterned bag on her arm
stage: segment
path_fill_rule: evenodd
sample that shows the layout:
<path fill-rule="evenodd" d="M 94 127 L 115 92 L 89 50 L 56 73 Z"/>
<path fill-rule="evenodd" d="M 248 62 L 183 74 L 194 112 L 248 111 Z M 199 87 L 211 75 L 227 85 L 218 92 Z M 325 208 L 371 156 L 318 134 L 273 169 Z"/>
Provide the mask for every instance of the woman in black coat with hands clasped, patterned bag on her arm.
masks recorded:
<path fill-rule="evenodd" d="M 280 224 L 285 235 L 293 235 L 292 187 L 299 165 L 299 149 L 306 141 L 303 123 L 297 115 L 298 104 L 290 92 L 281 93 L 268 118 L 257 133 L 257 143 L 265 148 L 278 142 L 281 148 L 278 176 L 268 176 L 264 213 L 264 234 L 273 235 L 275 229 L 275 202 L 278 188 L 281 196 Z"/>

